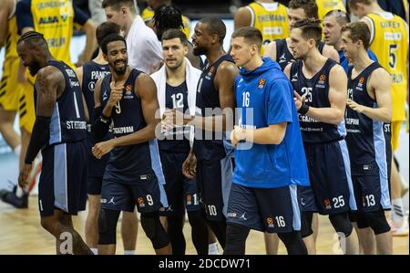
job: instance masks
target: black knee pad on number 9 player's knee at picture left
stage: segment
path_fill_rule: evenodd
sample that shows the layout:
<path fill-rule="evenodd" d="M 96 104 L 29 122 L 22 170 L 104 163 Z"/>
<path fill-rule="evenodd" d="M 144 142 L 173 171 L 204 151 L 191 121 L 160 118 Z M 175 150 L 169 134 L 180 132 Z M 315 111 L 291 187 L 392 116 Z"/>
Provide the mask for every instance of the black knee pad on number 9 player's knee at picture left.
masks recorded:
<path fill-rule="evenodd" d="M 101 209 L 98 215 L 98 245 L 117 244 L 119 211 Z"/>

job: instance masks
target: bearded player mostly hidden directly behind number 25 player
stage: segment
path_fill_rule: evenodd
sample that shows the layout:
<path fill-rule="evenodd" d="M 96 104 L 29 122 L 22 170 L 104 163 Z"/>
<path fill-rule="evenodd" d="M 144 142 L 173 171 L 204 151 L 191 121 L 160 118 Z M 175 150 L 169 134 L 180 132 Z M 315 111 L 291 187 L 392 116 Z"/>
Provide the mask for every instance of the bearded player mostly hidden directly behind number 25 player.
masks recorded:
<path fill-rule="evenodd" d="M 289 27 L 292 31 L 292 27 L 298 20 L 306 18 L 318 18 L 318 7 L 314 0 L 291 0 L 289 2 Z M 270 57 L 274 61 L 277 61 L 282 70 L 292 61 L 294 57 L 291 51 L 291 38 L 283 38 L 273 41 L 266 49 L 264 56 Z M 336 62 L 339 62 L 339 55 L 333 47 L 329 47 L 321 42 L 319 44 L 319 52 L 326 58 L 332 58 Z"/>

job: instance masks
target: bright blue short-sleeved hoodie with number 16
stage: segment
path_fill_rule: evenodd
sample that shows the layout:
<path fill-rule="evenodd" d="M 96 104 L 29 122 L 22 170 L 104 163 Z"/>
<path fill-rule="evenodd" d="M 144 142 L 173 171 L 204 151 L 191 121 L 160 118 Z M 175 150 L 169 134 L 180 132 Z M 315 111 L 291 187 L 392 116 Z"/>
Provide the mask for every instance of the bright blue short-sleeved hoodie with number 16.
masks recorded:
<path fill-rule="evenodd" d="M 241 68 L 234 88 L 241 127 L 260 129 L 287 122 L 287 129 L 278 145 L 239 143 L 233 183 L 253 188 L 309 185 L 293 88 L 278 63 L 263 58 L 261 67 L 253 71 Z"/>

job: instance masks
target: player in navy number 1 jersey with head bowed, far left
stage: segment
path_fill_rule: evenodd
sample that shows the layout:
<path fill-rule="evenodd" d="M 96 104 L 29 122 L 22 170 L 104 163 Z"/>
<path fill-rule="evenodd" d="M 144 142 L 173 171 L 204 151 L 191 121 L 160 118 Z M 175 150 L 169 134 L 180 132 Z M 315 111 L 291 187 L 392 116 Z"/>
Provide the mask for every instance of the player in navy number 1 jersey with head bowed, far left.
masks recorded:
<path fill-rule="evenodd" d="M 57 254 L 92 254 L 73 227 L 71 215 L 85 210 L 86 112 L 76 73 L 56 60 L 42 34 L 29 31 L 17 52 L 36 75 L 36 122 L 18 184 L 26 186 L 31 164 L 41 150 L 43 169 L 38 184 L 41 226 L 56 237 Z M 72 246 L 63 244 L 66 240 Z"/>

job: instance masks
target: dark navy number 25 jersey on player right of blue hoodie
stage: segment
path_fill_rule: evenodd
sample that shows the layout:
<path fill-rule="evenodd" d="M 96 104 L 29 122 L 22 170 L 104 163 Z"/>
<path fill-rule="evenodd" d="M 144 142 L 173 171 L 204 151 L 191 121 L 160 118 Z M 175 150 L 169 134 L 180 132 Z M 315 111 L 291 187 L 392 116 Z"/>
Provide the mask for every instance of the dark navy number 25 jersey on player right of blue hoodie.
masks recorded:
<path fill-rule="evenodd" d="M 328 58 L 323 68 L 312 79 L 306 79 L 302 72 L 303 62 L 293 62 L 291 68 L 291 83 L 299 95 L 305 96 L 306 104 L 314 108 L 331 107 L 329 101 L 329 74 L 337 63 Z M 346 134 L 344 121 L 333 125 L 313 120 L 307 115 L 299 114 L 302 138 L 304 143 L 323 143 L 342 140 Z"/>

